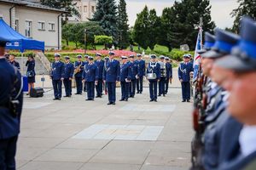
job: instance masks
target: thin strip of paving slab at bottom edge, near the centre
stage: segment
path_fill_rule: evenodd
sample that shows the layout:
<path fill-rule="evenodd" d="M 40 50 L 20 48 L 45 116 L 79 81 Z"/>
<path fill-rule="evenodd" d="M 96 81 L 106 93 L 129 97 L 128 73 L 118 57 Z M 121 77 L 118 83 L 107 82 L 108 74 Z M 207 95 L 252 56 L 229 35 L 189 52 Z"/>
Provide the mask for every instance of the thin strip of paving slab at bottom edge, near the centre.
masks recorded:
<path fill-rule="evenodd" d="M 79 170 L 139 170 L 140 165 L 109 164 L 109 163 L 86 163 Z"/>

